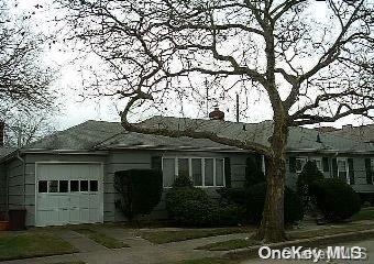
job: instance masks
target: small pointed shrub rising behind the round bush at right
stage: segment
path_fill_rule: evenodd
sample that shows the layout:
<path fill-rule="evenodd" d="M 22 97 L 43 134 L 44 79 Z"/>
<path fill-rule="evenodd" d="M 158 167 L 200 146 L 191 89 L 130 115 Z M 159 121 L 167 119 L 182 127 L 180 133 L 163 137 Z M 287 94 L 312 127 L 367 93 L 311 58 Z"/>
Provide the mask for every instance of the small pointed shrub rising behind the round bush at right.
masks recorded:
<path fill-rule="evenodd" d="M 324 178 L 321 170 L 318 169 L 316 162 L 307 162 L 302 168 L 302 172 L 297 178 L 297 191 L 301 196 L 309 195 L 310 185 L 319 179 Z"/>

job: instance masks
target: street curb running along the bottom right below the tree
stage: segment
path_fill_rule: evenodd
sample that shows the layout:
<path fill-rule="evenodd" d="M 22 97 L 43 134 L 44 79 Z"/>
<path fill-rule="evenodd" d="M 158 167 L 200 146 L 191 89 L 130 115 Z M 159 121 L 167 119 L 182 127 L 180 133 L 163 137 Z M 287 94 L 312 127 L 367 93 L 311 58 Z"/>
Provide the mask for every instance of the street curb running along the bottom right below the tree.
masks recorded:
<path fill-rule="evenodd" d="M 374 229 L 340 233 L 340 234 L 321 235 L 321 237 L 316 237 L 311 239 L 300 239 L 300 240 L 254 245 L 254 246 L 250 246 L 246 249 L 238 249 L 238 250 L 230 251 L 223 254 L 223 256 L 232 258 L 232 260 L 255 257 L 258 255 L 258 249 L 264 245 L 267 245 L 272 249 L 283 249 L 283 248 L 299 246 L 299 245 L 308 246 L 308 248 L 321 248 L 323 245 L 332 245 L 336 243 L 366 240 L 369 238 L 374 238 Z"/>

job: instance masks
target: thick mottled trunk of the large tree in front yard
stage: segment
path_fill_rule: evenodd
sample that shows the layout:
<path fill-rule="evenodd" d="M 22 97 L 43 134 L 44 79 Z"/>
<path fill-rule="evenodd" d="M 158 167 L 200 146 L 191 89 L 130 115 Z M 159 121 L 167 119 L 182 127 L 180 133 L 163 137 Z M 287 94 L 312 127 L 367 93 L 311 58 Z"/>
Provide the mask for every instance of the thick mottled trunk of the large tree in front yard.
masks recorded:
<path fill-rule="evenodd" d="M 266 242 L 284 241 L 284 189 L 286 175 L 286 145 L 288 124 L 285 119 L 275 119 L 271 139 L 272 155 L 267 167 L 267 191 L 263 219 L 255 239 Z"/>

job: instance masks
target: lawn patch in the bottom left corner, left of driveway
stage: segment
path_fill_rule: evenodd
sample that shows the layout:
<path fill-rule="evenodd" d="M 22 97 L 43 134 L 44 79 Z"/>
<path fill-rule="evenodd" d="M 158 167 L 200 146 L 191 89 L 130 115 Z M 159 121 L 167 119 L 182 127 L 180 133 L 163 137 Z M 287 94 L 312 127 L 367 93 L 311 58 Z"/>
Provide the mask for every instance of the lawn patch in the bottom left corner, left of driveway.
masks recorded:
<path fill-rule="evenodd" d="M 77 252 L 66 241 L 43 232 L 0 234 L 0 261 Z"/>

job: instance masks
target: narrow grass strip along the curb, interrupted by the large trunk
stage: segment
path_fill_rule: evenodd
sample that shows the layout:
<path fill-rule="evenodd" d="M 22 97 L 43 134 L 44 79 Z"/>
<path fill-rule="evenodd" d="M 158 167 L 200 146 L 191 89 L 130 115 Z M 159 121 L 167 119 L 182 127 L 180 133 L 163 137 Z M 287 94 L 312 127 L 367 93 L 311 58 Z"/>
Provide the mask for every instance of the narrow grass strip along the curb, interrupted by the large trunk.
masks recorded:
<path fill-rule="evenodd" d="M 289 233 L 289 240 L 299 240 L 299 239 L 310 239 L 322 235 L 331 235 L 331 234 L 339 234 L 339 233 L 348 233 L 354 231 L 363 231 L 373 229 L 374 224 L 350 224 L 350 226 L 342 226 L 342 227 L 331 227 L 320 230 L 307 230 L 307 231 L 293 231 Z M 237 249 L 244 249 L 252 245 L 258 245 L 261 242 L 252 240 L 252 239 L 235 239 L 235 240 L 228 240 L 222 242 L 216 242 L 206 244 L 202 246 L 197 248 L 196 250 L 208 250 L 208 251 L 230 251 Z"/>

